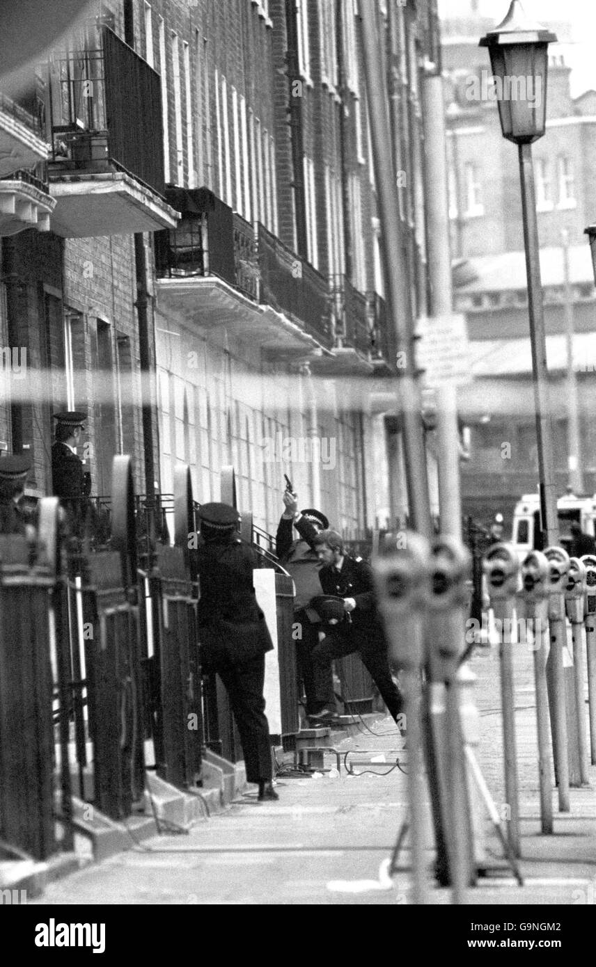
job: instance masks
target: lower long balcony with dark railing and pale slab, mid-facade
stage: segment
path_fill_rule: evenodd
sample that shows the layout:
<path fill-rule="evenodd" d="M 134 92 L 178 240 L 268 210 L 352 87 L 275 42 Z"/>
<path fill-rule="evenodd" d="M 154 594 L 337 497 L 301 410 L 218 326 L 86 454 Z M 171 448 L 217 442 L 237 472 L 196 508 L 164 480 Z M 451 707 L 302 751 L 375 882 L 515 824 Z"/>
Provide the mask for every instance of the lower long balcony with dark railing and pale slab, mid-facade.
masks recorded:
<path fill-rule="evenodd" d="M 262 225 L 255 235 L 209 189 L 168 189 L 166 198 L 182 218 L 175 229 L 156 234 L 159 306 L 165 315 L 189 329 L 224 327 L 275 357 L 322 352 L 330 343 L 321 324 L 328 293 L 311 266 Z M 298 279 L 292 277 L 296 265 Z"/>

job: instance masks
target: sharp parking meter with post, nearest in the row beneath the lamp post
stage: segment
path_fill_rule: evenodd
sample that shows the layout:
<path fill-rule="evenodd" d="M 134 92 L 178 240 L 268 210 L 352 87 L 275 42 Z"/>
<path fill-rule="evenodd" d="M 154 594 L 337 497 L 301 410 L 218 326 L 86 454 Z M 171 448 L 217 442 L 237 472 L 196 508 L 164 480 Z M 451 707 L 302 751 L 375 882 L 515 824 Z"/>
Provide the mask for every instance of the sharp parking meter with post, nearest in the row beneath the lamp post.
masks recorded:
<path fill-rule="evenodd" d="M 520 565 L 515 548 L 509 544 L 493 544 L 485 555 L 487 590 L 491 597 L 494 618 L 499 623 L 499 666 L 501 706 L 503 718 L 503 761 L 505 766 L 505 797 L 509 806 L 507 826 L 509 845 L 514 856 L 521 856 L 520 793 L 518 781 L 515 689 L 513 675 L 514 602 L 518 588 Z"/>

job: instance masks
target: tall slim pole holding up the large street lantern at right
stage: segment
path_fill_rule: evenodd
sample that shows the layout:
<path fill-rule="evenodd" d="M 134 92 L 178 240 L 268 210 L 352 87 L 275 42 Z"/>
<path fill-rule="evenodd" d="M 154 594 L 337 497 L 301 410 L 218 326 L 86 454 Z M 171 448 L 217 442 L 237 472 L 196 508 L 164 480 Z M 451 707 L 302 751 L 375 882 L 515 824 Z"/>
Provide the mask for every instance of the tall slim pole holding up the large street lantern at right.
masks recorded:
<path fill-rule="evenodd" d="M 534 400 L 536 405 L 536 438 L 538 444 L 538 473 L 540 477 L 540 509 L 544 546 L 558 544 L 558 519 L 556 515 L 556 484 L 552 451 L 551 407 L 549 401 L 549 370 L 547 366 L 547 339 L 540 277 L 540 249 L 538 222 L 536 219 L 536 190 L 532 167 L 532 148 L 519 145 L 521 210 L 523 216 L 523 243 L 525 246 L 525 271 L 527 276 L 527 302 L 532 346 L 532 371 Z"/>

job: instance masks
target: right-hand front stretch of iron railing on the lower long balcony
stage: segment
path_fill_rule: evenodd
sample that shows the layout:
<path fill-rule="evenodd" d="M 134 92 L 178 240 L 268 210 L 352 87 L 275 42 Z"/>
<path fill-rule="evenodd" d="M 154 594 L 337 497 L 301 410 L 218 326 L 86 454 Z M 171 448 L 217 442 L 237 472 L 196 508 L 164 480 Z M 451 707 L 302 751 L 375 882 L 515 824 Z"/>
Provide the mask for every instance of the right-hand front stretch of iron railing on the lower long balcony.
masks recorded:
<path fill-rule="evenodd" d="M 331 348 L 333 321 L 327 279 L 260 222 L 257 248 L 259 302 L 294 319 L 310 336 Z"/>

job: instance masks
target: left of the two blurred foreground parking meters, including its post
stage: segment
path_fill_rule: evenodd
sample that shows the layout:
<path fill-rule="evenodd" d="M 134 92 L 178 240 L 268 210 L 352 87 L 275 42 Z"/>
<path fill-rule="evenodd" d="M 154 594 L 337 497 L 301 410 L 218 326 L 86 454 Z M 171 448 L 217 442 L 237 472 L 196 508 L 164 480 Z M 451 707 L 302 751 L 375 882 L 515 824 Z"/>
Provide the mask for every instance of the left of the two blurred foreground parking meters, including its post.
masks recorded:
<path fill-rule="evenodd" d="M 403 538 L 403 536 L 402 536 Z M 379 611 L 389 641 L 392 663 L 402 669 L 403 707 L 407 730 L 407 779 L 412 902 L 426 902 L 426 797 L 420 723 L 421 668 L 424 657 L 423 608 L 429 581 L 429 543 L 406 532 L 399 549 L 385 545 L 373 557 Z"/>

